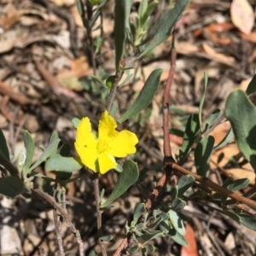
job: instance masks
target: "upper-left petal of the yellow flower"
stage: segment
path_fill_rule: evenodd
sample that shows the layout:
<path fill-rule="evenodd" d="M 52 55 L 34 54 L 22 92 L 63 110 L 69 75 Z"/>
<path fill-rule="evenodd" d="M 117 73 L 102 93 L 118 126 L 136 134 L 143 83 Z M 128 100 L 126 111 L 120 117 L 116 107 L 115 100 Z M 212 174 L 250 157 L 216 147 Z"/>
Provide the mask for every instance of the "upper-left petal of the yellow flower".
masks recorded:
<path fill-rule="evenodd" d="M 97 141 L 91 132 L 90 119 L 85 117 L 81 119 L 77 127 L 76 143 L 79 147 L 96 148 Z"/>

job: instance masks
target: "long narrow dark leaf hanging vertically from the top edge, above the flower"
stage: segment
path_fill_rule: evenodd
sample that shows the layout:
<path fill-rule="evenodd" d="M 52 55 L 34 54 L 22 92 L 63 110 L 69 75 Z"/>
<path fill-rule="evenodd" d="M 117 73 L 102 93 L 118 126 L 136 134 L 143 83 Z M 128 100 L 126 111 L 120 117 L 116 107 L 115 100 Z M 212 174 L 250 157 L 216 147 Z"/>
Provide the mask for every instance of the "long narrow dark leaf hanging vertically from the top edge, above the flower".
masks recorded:
<path fill-rule="evenodd" d="M 129 26 L 129 16 L 133 0 L 116 0 L 114 7 L 114 46 L 115 46 L 115 68 L 118 72 L 119 62 L 125 48 L 125 31 Z"/>

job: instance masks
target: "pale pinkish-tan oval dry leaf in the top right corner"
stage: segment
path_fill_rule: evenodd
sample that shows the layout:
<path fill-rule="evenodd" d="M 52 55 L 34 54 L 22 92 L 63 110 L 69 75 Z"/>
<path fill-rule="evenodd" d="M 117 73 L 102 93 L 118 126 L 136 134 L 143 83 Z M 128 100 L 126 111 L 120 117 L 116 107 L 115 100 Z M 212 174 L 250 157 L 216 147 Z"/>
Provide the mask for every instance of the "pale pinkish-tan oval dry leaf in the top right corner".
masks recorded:
<path fill-rule="evenodd" d="M 252 31 L 254 25 L 253 8 L 247 0 L 233 0 L 230 5 L 231 20 L 245 34 Z"/>

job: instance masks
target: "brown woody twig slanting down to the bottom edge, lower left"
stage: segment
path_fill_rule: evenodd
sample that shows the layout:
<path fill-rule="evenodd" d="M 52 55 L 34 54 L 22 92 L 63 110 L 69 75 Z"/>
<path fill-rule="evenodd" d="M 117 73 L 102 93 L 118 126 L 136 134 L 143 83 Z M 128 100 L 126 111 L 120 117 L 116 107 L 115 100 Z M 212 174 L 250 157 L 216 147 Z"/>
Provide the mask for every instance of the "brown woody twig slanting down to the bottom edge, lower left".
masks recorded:
<path fill-rule="evenodd" d="M 1 153 L 1 152 L 0 152 Z M 59 212 L 61 217 L 64 219 L 67 227 L 73 232 L 73 235 L 76 237 L 77 243 L 79 244 L 79 256 L 84 256 L 84 244 L 80 237 L 79 230 L 76 230 L 75 226 L 71 222 L 70 218 L 67 215 L 67 212 L 62 209 L 62 207 L 55 201 L 55 198 L 45 193 L 42 189 L 32 189 L 33 192 L 40 195 L 44 198 L 45 201 L 48 201 L 49 204 L 55 208 L 56 211 Z"/>

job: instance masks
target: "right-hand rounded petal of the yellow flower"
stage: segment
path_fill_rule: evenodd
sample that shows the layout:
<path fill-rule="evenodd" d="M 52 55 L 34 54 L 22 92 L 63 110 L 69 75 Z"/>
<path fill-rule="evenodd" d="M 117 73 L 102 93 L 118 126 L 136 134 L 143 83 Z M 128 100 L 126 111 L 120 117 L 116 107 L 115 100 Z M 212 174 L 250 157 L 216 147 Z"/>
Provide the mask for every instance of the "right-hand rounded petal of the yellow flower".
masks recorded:
<path fill-rule="evenodd" d="M 113 138 L 108 145 L 108 154 L 115 157 L 125 157 L 127 154 L 134 154 L 136 152 L 135 145 L 138 139 L 135 133 L 131 131 L 120 131 L 118 135 Z"/>

